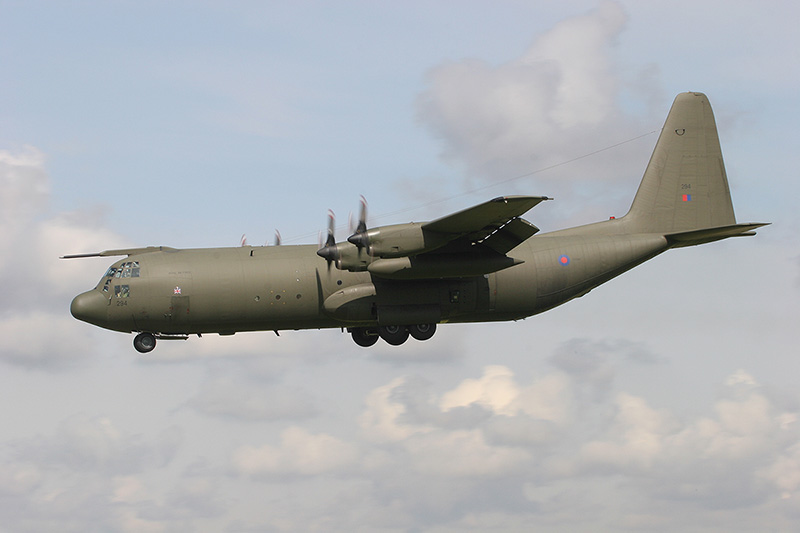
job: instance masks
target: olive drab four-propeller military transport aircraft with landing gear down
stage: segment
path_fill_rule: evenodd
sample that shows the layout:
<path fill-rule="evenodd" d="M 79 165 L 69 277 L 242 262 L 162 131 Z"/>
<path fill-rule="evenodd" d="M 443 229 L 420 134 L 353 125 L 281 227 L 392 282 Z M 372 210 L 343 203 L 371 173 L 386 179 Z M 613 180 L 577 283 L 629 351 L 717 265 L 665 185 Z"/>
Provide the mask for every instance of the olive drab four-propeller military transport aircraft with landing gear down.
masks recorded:
<path fill-rule="evenodd" d="M 546 196 L 495 198 L 430 222 L 358 227 L 336 242 L 178 250 L 127 256 L 72 315 L 156 339 L 238 331 L 341 328 L 359 346 L 426 340 L 446 322 L 516 320 L 583 296 L 670 248 L 754 235 L 737 224 L 716 123 L 701 93 L 675 98 L 630 211 L 621 218 L 537 234 L 520 218 Z M 244 244 L 244 243 L 243 243 Z"/>

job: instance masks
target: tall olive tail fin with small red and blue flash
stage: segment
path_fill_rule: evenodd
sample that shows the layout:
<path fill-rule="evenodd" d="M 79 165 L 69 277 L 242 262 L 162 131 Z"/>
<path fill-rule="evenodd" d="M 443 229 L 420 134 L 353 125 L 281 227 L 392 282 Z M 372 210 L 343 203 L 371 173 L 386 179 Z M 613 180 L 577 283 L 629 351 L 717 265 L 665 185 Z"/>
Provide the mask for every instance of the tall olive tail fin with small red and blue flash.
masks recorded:
<path fill-rule="evenodd" d="M 706 95 L 675 98 L 625 218 L 637 232 L 664 234 L 736 223 Z"/>

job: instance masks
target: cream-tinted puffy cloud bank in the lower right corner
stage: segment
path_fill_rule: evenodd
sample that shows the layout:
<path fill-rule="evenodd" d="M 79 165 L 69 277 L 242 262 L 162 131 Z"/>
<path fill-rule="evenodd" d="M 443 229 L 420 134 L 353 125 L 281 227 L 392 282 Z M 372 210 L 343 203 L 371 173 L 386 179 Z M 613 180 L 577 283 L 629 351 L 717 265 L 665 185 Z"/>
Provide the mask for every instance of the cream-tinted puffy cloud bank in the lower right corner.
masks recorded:
<path fill-rule="evenodd" d="M 603 434 L 581 445 L 578 471 L 622 475 L 650 498 L 691 498 L 707 509 L 766 504 L 797 490 L 796 413 L 781 413 L 742 370 L 725 380 L 712 416 L 684 421 L 622 392 L 613 406 Z"/>

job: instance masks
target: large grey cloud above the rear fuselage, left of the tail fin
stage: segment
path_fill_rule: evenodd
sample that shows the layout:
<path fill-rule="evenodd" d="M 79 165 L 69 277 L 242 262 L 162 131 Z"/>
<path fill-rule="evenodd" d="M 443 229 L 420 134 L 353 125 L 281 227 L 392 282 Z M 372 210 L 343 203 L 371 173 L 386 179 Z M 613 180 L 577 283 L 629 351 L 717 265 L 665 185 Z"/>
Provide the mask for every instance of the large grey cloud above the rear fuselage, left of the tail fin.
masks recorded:
<path fill-rule="evenodd" d="M 559 22 L 505 64 L 467 59 L 440 65 L 428 73 L 428 88 L 418 98 L 419 120 L 442 140 L 445 159 L 489 181 L 641 134 L 618 102 L 624 82 L 614 46 L 626 21 L 619 4 L 603 2 Z M 615 159 L 615 175 L 599 175 L 595 158 L 591 167 L 571 166 L 569 179 L 625 176 L 624 153 Z M 537 179 L 548 176 L 565 177 Z"/>

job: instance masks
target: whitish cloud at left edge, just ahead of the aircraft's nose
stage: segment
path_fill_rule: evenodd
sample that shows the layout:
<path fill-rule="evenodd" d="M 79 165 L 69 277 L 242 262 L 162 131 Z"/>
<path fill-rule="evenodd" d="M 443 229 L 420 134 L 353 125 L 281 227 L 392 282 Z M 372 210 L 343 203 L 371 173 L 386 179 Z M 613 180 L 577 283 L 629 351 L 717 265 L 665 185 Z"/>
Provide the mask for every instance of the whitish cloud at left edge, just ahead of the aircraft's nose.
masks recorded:
<path fill-rule="evenodd" d="M 76 348 L 86 339 L 74 327 L 69 302 L 96 280 L 86 278 L 86 263 L 58 257 L 124 240 L 98 223 L 99 209 L 51 214 L 45 162 L 32 146 L 0 150 L 0 360 L 52 371 L 94 354 Z"/>

